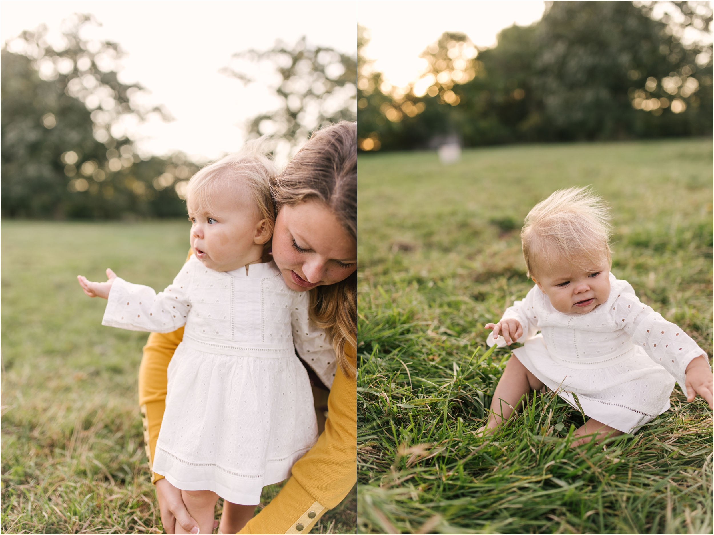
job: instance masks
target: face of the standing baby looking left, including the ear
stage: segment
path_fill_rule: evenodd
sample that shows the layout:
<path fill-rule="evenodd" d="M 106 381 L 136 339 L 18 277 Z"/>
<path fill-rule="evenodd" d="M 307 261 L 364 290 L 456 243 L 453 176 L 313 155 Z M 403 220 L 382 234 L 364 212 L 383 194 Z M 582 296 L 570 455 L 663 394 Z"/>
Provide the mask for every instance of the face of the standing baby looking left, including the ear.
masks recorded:
<path fill-rule="evenodd" d="M 188 218 L 193 223 L 191 249 L 206 267 L 231 271 L 260 260 L 262 244 L 270 234 L 265 225 L 261 227 L 258 210 L 252 207 L 249 198 L 234 192 L 223 193 L 211 199 L 211 210 L 198 207 L 189 199 Z"/>

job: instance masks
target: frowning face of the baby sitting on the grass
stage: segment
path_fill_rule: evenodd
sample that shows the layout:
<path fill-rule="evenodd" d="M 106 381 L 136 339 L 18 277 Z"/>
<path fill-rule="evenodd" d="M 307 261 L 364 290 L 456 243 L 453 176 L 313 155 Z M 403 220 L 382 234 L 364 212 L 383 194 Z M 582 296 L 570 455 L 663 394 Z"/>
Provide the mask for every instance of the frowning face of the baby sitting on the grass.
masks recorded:
<path fill-rule="evenodd" d="M 586 314 L 610 297 L 610 263 L 606 258 L 584 268 L 562 263 L 533 282 L 558 312 Z"/>

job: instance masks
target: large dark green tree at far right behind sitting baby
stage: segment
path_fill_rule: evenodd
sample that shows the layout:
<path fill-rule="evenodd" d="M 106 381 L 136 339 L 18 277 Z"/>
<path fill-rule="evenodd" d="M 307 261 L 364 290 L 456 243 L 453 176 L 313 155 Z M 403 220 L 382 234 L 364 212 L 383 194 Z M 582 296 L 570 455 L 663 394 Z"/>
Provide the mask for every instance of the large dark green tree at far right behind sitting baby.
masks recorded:
<path fill-rule="evenodd" d="M 685 49 L 666 21 L 649 15 L 620 1 L 550 6 L 535 34 L 534 86 L 555 137 L 705 133 L 710 121 L 701 123 L 694 93 L 702 87 L 710 93 L 711 62 L 698 66 L 700 52 Z M 673 86 L 681 89 L 668 92 Z"/>

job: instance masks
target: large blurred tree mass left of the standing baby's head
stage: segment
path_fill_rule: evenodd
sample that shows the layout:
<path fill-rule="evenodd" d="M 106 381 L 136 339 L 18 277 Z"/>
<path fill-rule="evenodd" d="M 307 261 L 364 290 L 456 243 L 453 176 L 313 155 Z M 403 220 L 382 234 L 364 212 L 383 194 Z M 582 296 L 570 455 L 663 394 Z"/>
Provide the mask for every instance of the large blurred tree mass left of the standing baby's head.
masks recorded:
<path fill-rule="evenodd" d="M 52 42 L 44 26 L 24 31 L 0 51 L 2 215 L 184 215 L 179 194 L 198 168 L 136 153 L 131 125 L 167 113 L 142 108 L 143 88 L 117 78 L 119 45 L 81 39 L 86 24 L 96 21 L 71 17 Z"/>

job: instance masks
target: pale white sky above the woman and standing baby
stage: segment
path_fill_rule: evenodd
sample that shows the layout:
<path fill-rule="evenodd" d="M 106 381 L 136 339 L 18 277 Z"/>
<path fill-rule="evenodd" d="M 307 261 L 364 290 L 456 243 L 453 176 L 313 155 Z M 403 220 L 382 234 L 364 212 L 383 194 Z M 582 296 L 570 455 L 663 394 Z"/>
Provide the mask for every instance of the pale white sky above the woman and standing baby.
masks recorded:
<path fill-rule="evenodd" d="M 216 158 L 238 150 L 246 119 L 275 108 L 260 83 L 243 87 L 218 73 L 234 52 L 270 49 L 276 39 L 332 46 L 356 54 L 355 0 L 345 1 L 1 1 L 0 39 L 46 24 L 58 29 L 74 13 L 103 24 L 94 39 L 118 42 L 128 53 L 120 79 L 138 81 L 176 121 L 139 127 L 141 148 L 154 154 L 181 150 Z M 265 74 L 265 73 L 263 73 Z"/>

